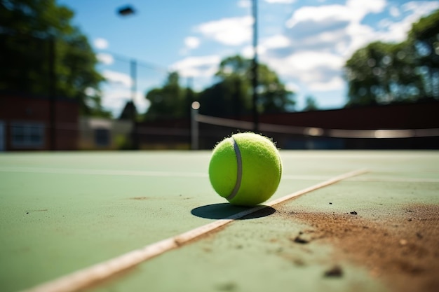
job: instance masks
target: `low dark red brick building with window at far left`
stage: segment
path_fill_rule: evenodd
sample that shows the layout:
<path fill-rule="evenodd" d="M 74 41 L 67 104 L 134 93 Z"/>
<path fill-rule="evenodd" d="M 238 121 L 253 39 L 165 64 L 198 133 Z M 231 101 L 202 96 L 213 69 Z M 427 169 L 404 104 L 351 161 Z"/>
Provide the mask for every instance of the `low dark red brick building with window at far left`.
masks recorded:
<path fill-rule="evenodd" d="M 76 150 L 78 137 L 76 101 L 0 95 L 0 151 Z"/>

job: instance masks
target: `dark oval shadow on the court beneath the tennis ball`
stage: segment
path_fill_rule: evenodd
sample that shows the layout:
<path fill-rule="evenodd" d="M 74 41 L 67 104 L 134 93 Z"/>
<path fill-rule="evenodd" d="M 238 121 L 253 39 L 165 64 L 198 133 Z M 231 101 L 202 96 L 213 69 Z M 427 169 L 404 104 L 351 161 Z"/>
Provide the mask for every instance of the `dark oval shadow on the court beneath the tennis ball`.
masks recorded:
<path fill-rule="evenodd" d="M 229 203 L 208 204 L 205 206 L 196 207 L 192 209 L 191 214 L 201 218 L 224 219 L 234 214 L 237 214 L 239 212 L 252 208 L 254 207 L 234 206 L 233 204 L 229 204 Z M 266 217 L 266 216 L 270 216 L 274 212 L 276 212 L 276 209 L 269 206 L 264 206 L 263 209 L 255 211 L 252 214 L 243 216 L 242 218 L 238 218 L 237 220 L 248 220 L 248 219 Z"/>

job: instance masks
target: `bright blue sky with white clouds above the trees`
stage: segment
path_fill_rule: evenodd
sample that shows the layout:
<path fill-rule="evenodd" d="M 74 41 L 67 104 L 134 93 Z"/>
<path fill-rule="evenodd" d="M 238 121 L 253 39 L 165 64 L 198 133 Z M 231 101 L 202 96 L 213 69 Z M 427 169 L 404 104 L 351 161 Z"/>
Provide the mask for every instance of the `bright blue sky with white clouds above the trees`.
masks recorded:
<path fill-rule="evenodd" d="M 252 57 L 250 0 L 59 0 L 76 14 L 74 25 L 88 36 L 107 78 L 103 104 L 119 115 L 130 99 L 130 60 L 137 60 L 135 103 L 147 109 L 145 92 L 177 70 L 182 85 L 196 90 L 214 82 L 224 58 Z M 116 10 L 130 4 L 135 15 Z M 412 22 L 439 8 L 439 1 L 258 0 L 259 61 L 321 109 L 346 102 L 342 67 L 371 41 L 405 39 Z M 201 105 L 202 106 L 202 105 Z"/>

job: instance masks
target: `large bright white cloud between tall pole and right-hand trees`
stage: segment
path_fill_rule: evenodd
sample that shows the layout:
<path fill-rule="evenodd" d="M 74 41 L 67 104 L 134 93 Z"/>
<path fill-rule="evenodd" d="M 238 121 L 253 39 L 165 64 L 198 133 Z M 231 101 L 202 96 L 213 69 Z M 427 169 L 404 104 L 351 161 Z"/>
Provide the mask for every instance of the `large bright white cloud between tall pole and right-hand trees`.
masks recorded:
<path fill-rule="evenodd" d="M 342 90 L 346 58 L 375 36 L 363 18 L 385 8 L 385 0 L 303 6 L 285 22 L 285 34 L 262 41 L 258 53 L 281 76 L 306 85 L 307 90 Z"/>

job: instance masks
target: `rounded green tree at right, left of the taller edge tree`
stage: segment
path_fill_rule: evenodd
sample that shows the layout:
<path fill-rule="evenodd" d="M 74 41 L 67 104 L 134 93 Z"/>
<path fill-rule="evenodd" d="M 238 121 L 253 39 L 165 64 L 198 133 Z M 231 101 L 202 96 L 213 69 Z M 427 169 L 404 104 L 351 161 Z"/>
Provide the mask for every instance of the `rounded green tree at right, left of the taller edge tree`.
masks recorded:
<path fill-rule="evenodd" d="M 350 106 L 416 99 L 419 78 L 406 43 L 374 42 L 357 50 L 346 62 Z"/>

